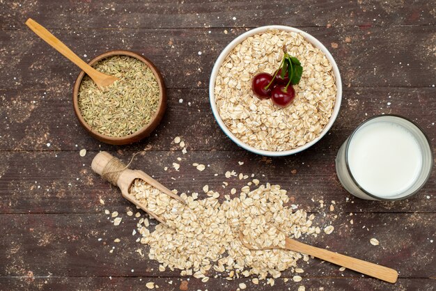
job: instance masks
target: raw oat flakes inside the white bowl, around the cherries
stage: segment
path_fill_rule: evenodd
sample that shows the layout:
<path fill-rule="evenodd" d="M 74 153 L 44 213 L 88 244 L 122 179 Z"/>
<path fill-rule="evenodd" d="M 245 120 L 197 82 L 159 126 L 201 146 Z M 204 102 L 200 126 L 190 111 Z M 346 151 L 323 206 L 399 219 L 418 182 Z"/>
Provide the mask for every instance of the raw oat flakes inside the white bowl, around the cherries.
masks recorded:
<path fill-rule="evenodd" d="M 303 66 L 295 100 L 279 108 L 251 91 L 258 72 L 273 74 L 283 58 L 282 47 Z M 299 33 L 271 30 L 251 36 L 227 56 L 215 81 L 221 119 L 240 141 L 261 150 L 283 151 L 316 139 L 329 122 L 336 99 L 332 64 Z"/>

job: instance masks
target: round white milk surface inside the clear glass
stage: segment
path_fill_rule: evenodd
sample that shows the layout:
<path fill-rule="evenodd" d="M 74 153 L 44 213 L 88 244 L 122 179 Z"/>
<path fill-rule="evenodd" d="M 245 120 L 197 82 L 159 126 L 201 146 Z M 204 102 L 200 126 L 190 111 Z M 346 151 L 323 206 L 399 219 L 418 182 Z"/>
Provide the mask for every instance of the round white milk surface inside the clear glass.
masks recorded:
<path fill-rule="evenodd" d="M 412 133 L 389 121 L 364 125 L 352 136 L 348 148 L 353 178 L 360 187 L 382 198 L 409 189 L 421 172 L 422 159 Z"/>

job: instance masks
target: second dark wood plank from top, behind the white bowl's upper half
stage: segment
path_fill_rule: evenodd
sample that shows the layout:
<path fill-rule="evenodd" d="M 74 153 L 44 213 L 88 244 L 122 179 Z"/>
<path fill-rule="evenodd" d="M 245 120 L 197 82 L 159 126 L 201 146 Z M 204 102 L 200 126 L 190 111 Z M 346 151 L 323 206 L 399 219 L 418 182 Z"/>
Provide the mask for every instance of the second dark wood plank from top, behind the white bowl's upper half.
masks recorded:
<path fill-rule="evenodd" d="M 345 86 L 435 85 L 436 26 L 304 30 L 329 47 Z M 111 49 L 131 49 L 157 65 L 169 88 L 205 88 L 221 50 L 244 31 L 235 29 L 225 34 L 223 29 L 62 29 L 53 33 L 85 60 Z M 0 43 L 0 60 L 8 60 L 1 63 L 6 73 L 0 89 L 62 90 L 70 88 L 79 74 L 75 65 L 25 27 L 0 31 Z"/>

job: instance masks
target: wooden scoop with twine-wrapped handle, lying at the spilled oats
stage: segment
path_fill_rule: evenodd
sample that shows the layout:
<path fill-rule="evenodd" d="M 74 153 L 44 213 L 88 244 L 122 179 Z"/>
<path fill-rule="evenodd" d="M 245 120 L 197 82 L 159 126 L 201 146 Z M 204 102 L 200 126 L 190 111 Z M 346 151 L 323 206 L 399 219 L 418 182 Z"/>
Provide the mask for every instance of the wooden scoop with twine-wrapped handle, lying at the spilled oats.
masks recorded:
<path fill-rule="evenodd" d="M 139 201 L 133 195 L 129 194 L 129 188 L 130 185 L 132 185 L 132 182 L 134 182 L 135 179 L 144 180 L 146 183 L 162 191 L 162 193 L 180 201 L 180 203 L 186 204 L 185 200 L 180 198 L 180 196 L 173 194 L 173 192 L 164 185 L 160 184 L 143 171 L 130 170 L 130 168 L 127 168 L 123 162 L 109 154 L 109 152 L 99 152 L 97 155 L 95 155 L 93 162 L 91 163 L 91 168 L 95 173 L 101 175 L 102 178 L 108 180 L 115 186 L 118 186 L 124 198 L 132 202 L 134 205 L 137 205 L 139 208 L 150 214 L 165 226 L 166 222 L 163 219 L 148 210 L 145 205 L 139 203 Z"/>

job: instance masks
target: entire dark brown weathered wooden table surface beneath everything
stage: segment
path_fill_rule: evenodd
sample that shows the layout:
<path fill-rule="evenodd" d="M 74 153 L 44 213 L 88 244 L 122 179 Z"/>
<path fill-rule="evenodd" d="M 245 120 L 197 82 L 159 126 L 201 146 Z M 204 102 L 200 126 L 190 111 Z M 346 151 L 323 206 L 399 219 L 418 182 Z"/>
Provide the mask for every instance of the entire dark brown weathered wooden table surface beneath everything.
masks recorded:
<path fill-rule="evenodd" d="M 415 120 L 435 144 L 435 3 L 286 2 L 0 0 L 1 290 L 144 290 L 150 281 L 159 290 L 236 290 L 242 282 L 250 290 L 270 290 L 265 281 L 226 281 L 214 272 L 202 283 L 180 271 L 159 272 L 157 262 L 141 258 L 132 236 L 136 222 L 125 214 L 132 205 L 91 171 L 100 150 L 124 162 L 146 150 L 131 168 L 171 189 L 199 191 L 200 197 L 204 184 L 222 192 L 247 182 L 233 179 L 223 189 L 226 171 L 255 173 L 260 182 L 288 189 L 293 203 L 316 214 L 316 223 L 332 221 L 332 235 L 305 242 L 399 272 L 391 285 L 313 259 L 303 264 L 303 281 L 278 278 L 274 289 L 435 290 L 436 171 L 413 198 L 381 203 L 348 194 L 334 169 L 336 152 L 352 130 L 381 113 Z M 169 97 L 153 136 L 109 146 L 86 134 L 72 110 L 79 69 L 24 26 L 28 17 L 86 61 L 111 49 L 150 58 Z M 215 123 L 208 101 L 219 52 L 240 33 L 267 24 L 295 26 L 318 38 L 338 63 L 344 87 L 341 112 L 329 133 L 309 150 L 275 159 L 235 146 Z M 185 140 L 186 155 L 172 142 L 175 136 Z M 85 157 L 79 156 L 82 148 Z M 171 168 L 177 157 L 180 171 Z M 200 173 L 190 166 L 194 162 L 208 168 Z M 320 208 L 318 200 L 326 206 Z M 332 200 L 336 206 L 330 212 Z M 105 209 L 120 212 L 123 223 L 114 226 Z M 379 246 L 369 243 L 373 237 Z M 115 244 L 116 238 L 121 242 Z"/>

